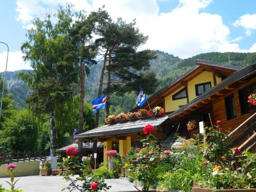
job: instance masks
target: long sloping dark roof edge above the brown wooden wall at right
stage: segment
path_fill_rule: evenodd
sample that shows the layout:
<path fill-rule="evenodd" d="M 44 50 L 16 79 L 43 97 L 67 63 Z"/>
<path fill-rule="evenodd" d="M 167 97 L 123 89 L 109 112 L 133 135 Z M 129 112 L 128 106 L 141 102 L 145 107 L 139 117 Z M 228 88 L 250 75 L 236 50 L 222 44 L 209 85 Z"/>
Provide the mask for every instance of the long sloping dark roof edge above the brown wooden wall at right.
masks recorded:
<path fill-rule="evenodd" d="M 233 74 L 229 75 L 226 79 L 221 81 L 216 86 L 212 87 L 208 91 L 204 92 L 202 95 L 198 96 L 194 100 L 190 101 L 186 105 L 182 106 L 179 110 L 175 111 L 174 113 L 168 115 L 170 119 L 176 117 L 177 115 L 181 114 L 182 112 L 186 111 L 187 109 L 191 108 L 192 106 L 198 104 L 200 101 L 208 98 L 209 96 L 215 94 L 216 92 L 220 91 L 221 89 L 224 89 L 229 84 L 236 82 L 238 80 L 242 80 L 244 78 L 247 78 L 248 76 L 252 76 L 256 74 L 256 63 L 247 66 L 246 68 L 243 68 L 237 72 L 234 72 Z"/>

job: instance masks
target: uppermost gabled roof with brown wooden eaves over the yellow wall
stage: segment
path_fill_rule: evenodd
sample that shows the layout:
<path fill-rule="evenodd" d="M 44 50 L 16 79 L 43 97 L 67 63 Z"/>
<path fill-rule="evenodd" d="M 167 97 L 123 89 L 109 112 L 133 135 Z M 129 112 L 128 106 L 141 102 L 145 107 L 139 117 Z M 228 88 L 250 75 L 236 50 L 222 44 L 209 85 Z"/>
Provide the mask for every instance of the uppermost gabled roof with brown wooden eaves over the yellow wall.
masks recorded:
<path fill-rule="evenodd" d="M 211 61 L 207 61 L 207 60 L 197 59 L 196 66 L 194 66 L 190 70 L 186 71 L 183 75 L 179 76 L 177 79 L 170 82 L 170 84 L 168 84 L 168 86 L 166 86 L 165 88 L 163 88 L 163 89 L 159 90 L 157 93 L 153 94 L 150 98 L 147 99 L 148 102 L 151 102 L 151 100 L 153 100 L 154 98 L 159 97 L 161 94 L 163 94 L 164 92 L 166 92 L 167 90 L 169 90 L 170 88 L 175 86 L 175 84 L 182 81 L 182 79 L 187 77 L 190 73 L 197 71 L 198 68 L 200 68 L 200 67 L 201 67 L 201 69 L 208 70 L 208 71 L 215 71 L 217 74 L 223 74 L 225 76 L 228 76 L 228 75 L 232 74 L 233 72 L 243 69 L 242 67 L 238 67 L 238 66 L 232 66 L 232 65 L 228 65 L 228 64 L 222 64 L 222 63 L 218 63 L 218 62 L 211 62 Z M 147 105 L 147 103 L 145 103 L 143 106 L 145 106 L 145 105 Z M 140 109 L 139 106 L 136 106 L 134 109 L 131 110 L 131 112 L 136 112 L 139 109 Z"/>

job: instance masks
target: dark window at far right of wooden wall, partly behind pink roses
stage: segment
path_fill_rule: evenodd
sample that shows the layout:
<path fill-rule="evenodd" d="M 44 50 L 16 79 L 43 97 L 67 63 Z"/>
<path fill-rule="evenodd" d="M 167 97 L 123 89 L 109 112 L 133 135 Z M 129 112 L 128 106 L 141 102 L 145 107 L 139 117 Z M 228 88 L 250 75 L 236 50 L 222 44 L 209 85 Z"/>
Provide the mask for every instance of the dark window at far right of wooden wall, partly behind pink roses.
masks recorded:
<path fill-rule="evenodd" d="M 240 109 L 241 109 L 241 114 L 244 115 L 246 113 L 249 113 L 250 110 L 255 108 L 255 106 L 249 104 L 247 102 L 248 96 L 251 93 L 256 93 L 256 86 L 255 84 L 252 84 L 249 87 L 246 87 L 238 92 L 239 94 L 239 102 L 240 102 Z"/>

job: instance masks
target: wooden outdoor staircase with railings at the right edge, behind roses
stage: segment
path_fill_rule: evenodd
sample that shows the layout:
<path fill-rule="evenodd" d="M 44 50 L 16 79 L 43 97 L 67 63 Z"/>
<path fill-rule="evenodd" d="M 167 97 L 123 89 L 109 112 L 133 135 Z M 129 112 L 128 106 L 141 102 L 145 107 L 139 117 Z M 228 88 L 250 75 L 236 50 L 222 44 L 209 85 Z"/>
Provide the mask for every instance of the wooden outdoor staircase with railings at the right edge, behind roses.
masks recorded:
<path fill-rule="evenodd" d="M 242 132 L 241 132 L 242 131 Z M 241 132 L 239 135 L 237 135 Z M 235 138 L 233 138 L 236 135 Z M 227 144 L 228 147 L 238 146 L 241 150 L 246 148 L 247 151 L 255 153 L 256 151 L 256 113 L 246 119 L 241 125 L 234 129 L 227 138 L 233 138 Z M 226 139 L 227 139 L 226 138 Z"/>

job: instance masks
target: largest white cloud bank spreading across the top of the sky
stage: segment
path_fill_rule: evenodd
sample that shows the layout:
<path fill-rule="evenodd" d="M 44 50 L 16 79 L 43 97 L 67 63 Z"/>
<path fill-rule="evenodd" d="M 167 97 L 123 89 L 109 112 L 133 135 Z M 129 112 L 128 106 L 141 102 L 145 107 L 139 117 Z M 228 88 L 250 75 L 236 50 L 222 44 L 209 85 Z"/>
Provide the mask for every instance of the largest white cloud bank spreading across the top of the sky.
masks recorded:
<path fill-rule="evenodd" d="M 52 11 L 56 11 L 58 3 L 65 5 L 69 1 L 17 0 L 17 18 L 28 26 L 28 19 L 39 15 L 38 12 L 43 13 L 50 7 Z M 249 50 L 240 49 L 237 42 L 242 37 L 230 40 L 230 29 L 223 23 L 222 17 L 204 12 L 212 0 L 180 0 L 179 5 L 167 13 L 160 12 L 158 2 L 159 0 L 73 0 L 72 4 L 76 11 L 87 12 L 105 5 L 105 10 L 113 19 L 122 17 L 126 22 L 131 22 L 136 18 L 139 30 L 148 35 L 148 41 L 141 49 L 158 49 L 181 58 L 212 51 L 254 50 L 253 47 Z M 240 18 L 241 22 L 235 22 L 237 26 L 249 25 L 242 22 L 243 16 Z M 248 30 L 254 29 L 249 26 Z M 250 33 L 248 31 L 247 35 Z"/>

